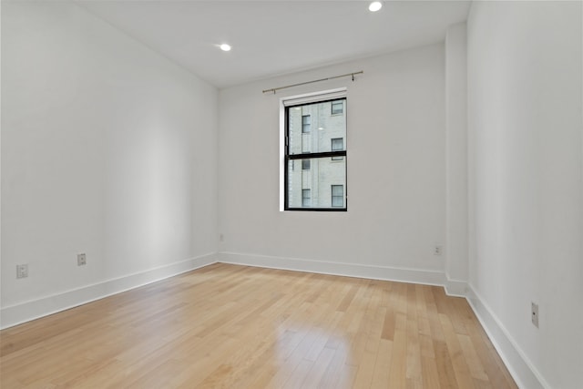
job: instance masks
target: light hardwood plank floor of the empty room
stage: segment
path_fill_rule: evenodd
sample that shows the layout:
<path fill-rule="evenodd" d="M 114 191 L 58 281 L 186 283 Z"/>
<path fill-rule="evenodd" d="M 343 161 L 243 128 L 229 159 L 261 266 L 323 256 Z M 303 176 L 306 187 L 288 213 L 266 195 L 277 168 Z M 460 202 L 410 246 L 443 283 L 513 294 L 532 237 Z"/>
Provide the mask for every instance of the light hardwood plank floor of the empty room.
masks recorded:
<path fill-rule="evenodd" d="M 443 288 L 220 263 L 0 343 L 3 389 L 517 387 Z"/>

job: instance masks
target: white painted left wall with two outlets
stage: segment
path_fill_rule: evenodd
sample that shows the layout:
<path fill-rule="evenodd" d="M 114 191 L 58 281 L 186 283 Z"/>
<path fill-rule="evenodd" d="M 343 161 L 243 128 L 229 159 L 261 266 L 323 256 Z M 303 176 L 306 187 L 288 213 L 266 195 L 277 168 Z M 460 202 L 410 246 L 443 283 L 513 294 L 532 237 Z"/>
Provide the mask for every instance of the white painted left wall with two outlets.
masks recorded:
<path fill-rule="evenodd" d="M 217 250 L 215 87 L 62 2 L 3 2 L 2 53 L 3 326 Z"/>

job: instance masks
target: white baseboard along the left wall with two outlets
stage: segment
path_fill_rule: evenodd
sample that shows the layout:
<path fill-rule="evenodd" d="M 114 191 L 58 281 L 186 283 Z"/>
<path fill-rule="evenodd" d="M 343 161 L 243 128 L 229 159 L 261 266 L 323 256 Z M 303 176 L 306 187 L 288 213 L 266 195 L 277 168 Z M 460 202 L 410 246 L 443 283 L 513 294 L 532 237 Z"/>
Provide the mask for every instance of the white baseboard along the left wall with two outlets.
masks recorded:
<path fill-rule="evenodd" d="M 138 288 L 151 282 L 157 282 L 192 271 L 217 262 L 217 254 L 210 253 L 185 261 L 174 262 L 169 265 L 148 271 L 141 271 L 114 280 L 87 285 L 75 290 L 57 293 L 41 299 L 22 302 L 0 310 L 0 329 L 15 326 L 23 322 L 38 319 L 49 314 L 65 311 L 87 302 L 94 302 L 104 297 Z"/>

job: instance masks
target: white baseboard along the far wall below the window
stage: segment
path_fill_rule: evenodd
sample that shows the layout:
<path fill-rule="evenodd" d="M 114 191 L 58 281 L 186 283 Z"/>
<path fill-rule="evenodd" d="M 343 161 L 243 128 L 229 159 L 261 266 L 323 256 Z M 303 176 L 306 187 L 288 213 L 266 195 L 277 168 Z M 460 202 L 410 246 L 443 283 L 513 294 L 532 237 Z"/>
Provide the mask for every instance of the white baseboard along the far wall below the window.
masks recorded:
<path fill-rule="evenodd" d="M 445 285 L 445 274 L 443 271 L 363 265 L 360 263 L 312 261 L 258 254 L 241 254 L 236 252 L 220 252 L 218 261 L 237 265 L 257 266 L 261 268 L 310 271 L 321 274 L 368 278 L 372 280 L 412 282 L 438 286 Z"/>

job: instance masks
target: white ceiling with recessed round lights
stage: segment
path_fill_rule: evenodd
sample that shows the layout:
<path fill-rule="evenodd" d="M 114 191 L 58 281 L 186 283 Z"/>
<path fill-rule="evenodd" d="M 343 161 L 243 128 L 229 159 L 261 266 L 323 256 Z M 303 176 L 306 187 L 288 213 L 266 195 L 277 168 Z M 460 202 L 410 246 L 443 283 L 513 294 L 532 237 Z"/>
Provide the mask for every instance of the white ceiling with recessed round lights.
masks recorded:
<path fill-rule="evenodd" d="M 77 4 L 216 87 L 441 42 L 468 1 L 86 0 Z M 218 45 L 233 46 L 228 53 Z"/>

